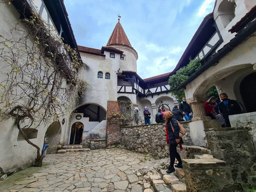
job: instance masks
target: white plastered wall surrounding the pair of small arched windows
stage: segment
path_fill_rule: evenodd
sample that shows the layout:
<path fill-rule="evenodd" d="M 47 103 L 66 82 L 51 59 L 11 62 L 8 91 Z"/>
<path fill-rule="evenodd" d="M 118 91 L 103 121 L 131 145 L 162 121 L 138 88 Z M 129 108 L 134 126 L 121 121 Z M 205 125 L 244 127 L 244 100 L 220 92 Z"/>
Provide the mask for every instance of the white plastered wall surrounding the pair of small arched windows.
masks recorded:
<path fill-rule="evenodd" d="M 115 54 L 115 58 L 110 58 L 109 52 L 104 53 L 105 57 L 91 55 L 80 52 L 82 61 L 87 66 L 87 70 L 82 71 L 84 80 L 90 87 L 84 91 L 80 104 L 97 104 L 107 109 L 108 101 L 117 100 L 117 74 L 115 69 L 120 66 L 120 54 Z M 98 72 L 103 73 L 103 78 L 97 78 Z M 110 79 L 105 79 L 105 73 L 110 73 Z"/>

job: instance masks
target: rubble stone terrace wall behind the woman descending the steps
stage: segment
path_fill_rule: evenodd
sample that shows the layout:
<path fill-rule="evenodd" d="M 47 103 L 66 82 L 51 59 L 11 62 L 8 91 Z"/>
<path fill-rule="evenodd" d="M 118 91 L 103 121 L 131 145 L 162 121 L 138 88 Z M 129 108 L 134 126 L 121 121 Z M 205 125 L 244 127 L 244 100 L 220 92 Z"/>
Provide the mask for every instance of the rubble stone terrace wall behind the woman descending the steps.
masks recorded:
<path fill-rule="evenodd" d="M 189 122 L 181 122 L 181 124 L 187 130 L 186 136 L 183 137 L 183 145 L 191 145 Z M 121 147 L 131 151 L 150 153 L 159 158 L 168 157 L 169 145 L 166 144 L 165 124 L 122 127 Z"/>

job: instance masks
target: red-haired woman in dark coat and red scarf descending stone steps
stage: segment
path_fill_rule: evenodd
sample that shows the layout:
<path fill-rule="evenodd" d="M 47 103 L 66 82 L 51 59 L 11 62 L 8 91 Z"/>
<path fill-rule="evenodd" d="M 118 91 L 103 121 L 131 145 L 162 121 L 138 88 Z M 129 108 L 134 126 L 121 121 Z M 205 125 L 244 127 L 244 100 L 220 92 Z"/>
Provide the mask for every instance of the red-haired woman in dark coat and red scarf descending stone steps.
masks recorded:
<path fill-rule="evenodd" d="M 167 135 L 169 137 L 169 152 L 170 152 L 170 165 L 166 173 L 172 173 L 172 172 L 175 172 L 175 169 L 173 167 L 175 163 L 175 158 L 179 162 L 177 165 L 175 165 L 175 167 L 183 168 L 180 155 L 177 152 L 177 145 L 183 143 L 183 140 L 179 136 L 180 128 L 178 125 L 178 121 L 174 118 L 172 112 L 166 111 L 164 113 L 164 116 L 165 116 L 165 122 L 167 125 Z M 172 126 L 174 128 L 174 131 L 172 130 Z"/>

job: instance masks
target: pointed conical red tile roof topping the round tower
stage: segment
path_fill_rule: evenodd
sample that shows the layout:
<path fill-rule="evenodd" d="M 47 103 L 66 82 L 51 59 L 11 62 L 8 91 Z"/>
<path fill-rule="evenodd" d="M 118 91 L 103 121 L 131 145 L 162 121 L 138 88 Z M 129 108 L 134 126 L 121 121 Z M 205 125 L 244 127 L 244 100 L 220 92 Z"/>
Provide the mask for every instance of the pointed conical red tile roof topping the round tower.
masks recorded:
<path fill-rule="evenodd" d="M 107 46 L 113 44 L 126 45 L 128 47 L 131 47 L 131 43 L 119 21 L 116 23 L 116 26 L 108 40 Z"/>

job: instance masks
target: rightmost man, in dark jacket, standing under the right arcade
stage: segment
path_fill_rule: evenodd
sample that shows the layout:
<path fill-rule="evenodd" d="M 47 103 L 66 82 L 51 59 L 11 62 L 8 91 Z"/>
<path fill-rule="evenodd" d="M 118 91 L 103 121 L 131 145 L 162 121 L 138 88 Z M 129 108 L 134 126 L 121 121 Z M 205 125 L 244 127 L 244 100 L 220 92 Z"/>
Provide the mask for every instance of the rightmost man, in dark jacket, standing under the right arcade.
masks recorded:
<path fill-rule="evenodd" d="M 218 104 L 218 108 L 226 121 L 227 127 L 231 127 L 228 116 L 240 114 L 242 109 L 236 100 L 228 99 L 227 93 L 221 93 L 220 98 L 222 102 Z"/>

